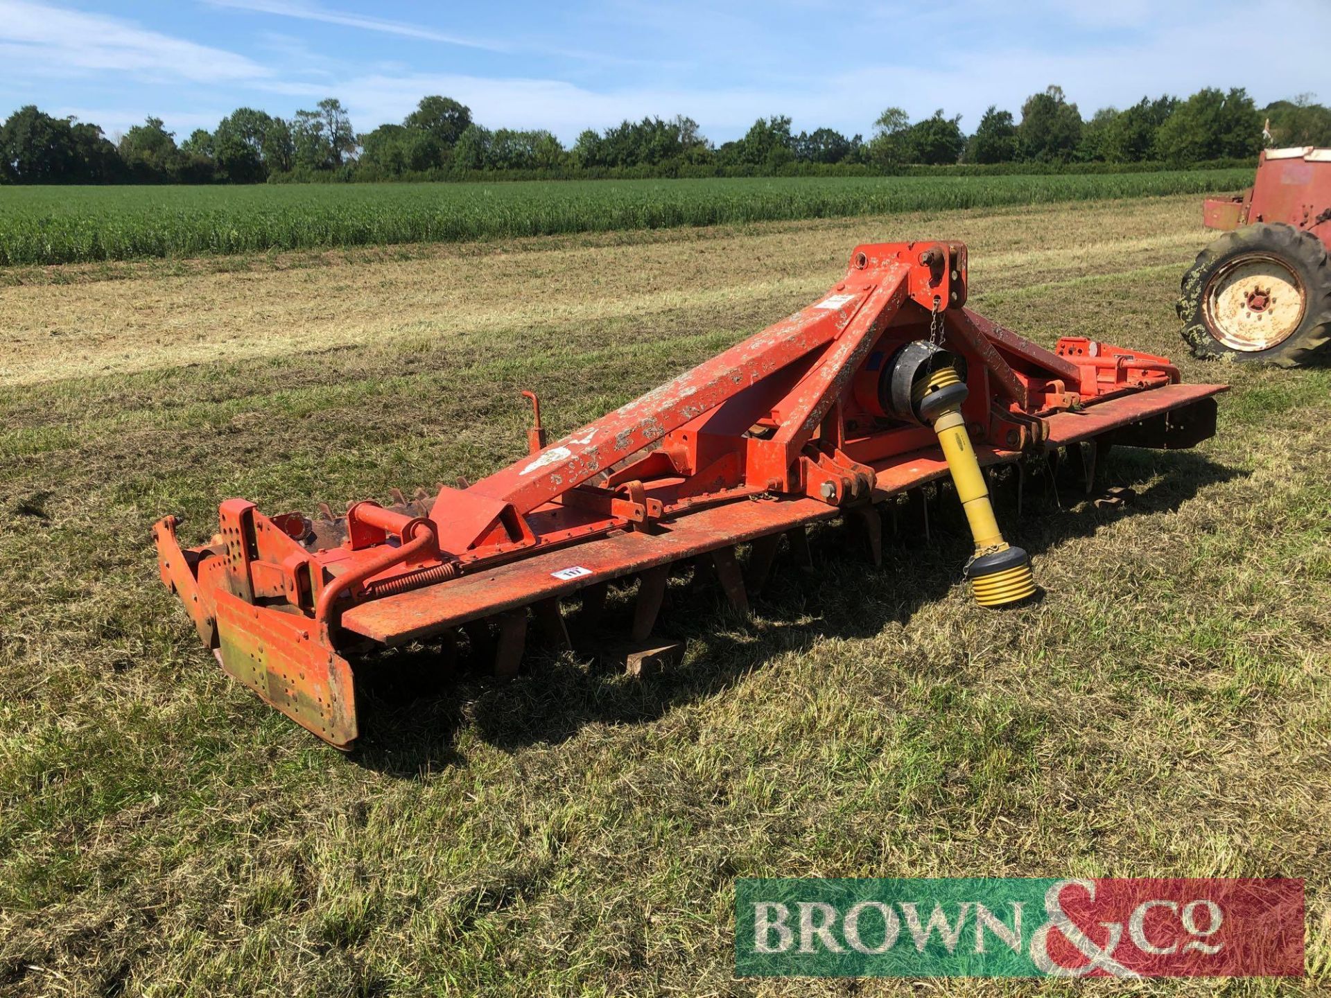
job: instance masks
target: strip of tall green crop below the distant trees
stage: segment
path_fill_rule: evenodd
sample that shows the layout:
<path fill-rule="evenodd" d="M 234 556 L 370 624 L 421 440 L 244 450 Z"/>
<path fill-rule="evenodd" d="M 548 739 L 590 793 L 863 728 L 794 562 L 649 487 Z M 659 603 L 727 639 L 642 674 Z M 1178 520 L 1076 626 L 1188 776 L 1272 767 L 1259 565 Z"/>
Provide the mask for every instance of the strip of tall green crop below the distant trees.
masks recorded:
<path fill-rule="evenodd" d="M 508 184 L 0 189 L 0 266 L 1198 194 L 1239 170 Z"/>

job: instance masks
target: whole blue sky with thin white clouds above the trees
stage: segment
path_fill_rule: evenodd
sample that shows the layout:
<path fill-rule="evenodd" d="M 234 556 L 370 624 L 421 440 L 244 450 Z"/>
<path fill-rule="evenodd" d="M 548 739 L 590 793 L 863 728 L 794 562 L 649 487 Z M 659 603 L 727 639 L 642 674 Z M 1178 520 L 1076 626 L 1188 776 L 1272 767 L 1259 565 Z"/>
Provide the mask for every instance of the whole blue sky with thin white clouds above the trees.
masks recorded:
<path fill-rule="evenodd" d="M 970 130 L 1051 83 L 1085 117 L 1201 86 L 1327 101 L 1326 57 L 1288 40 L 1328 37 L 1331 0 L 0 0 L 0 116 L 37 104 L 114 134 L 156 114 L 184 138 L 237 106 L 337 96 L 369 130 L 445 93 L 566 142 L 676 113 L 717 142 L 776 113 L 868 134 L 889 105 Z"/>

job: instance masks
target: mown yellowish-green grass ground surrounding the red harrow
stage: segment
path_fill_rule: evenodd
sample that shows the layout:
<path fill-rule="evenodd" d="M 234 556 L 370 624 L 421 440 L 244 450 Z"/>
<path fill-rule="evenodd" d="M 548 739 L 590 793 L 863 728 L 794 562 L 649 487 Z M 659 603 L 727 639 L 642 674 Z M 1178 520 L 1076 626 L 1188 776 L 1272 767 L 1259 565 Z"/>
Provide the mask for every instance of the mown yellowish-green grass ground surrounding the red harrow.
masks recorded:
<path fill-rule="evenodd" d="M 1179 357 L 1195 218 L 1094 204 L 0 290 L 0 993 L 904 994 L 733 979 L 733 880 L 1061 874 L 1306 877 L 1307 981 L 1135 991 L 1324 987 L 1327 371 L 1182 358 L 1233 382 L 1221 435 L 1115 451 L 1131 507 L 1037 483 L 1018 520 L 1001 490 L 1037 605 L 972 604 L 944 496 L 881 571 L 823 531 L 817 572 L 780 566 L 751 623 L 672 589 L 688 655 L 656 677 L 536 656 L 498 684 L 418 655 L 371 684 L 350 757 L 218 673 L 149 546 L 166 511 L 206 536 L 229 495 L 309 510 L 483 474 L 524 447 L 520 387 L 574 426 L 870 238 L 966 238 L 976 307 L 1042 342 Z"/>

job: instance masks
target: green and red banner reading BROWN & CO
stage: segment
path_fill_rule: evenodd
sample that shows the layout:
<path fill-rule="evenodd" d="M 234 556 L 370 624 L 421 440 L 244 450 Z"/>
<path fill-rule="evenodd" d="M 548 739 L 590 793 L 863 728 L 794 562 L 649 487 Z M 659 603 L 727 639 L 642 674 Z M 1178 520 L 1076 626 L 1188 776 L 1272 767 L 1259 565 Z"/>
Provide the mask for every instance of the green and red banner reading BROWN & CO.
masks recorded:
<path fill-rule="evenodd" d="M 1303 881 L 739 880 L 745 977 L 1302 977 Z"/>

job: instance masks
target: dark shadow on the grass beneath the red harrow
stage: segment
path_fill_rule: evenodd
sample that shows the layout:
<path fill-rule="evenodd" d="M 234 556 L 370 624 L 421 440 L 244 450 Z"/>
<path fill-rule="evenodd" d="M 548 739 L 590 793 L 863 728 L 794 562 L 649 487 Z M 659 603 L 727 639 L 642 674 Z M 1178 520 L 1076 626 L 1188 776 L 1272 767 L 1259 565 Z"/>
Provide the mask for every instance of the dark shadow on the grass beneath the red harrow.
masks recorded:
<path fill-rule="evenodd" d="M 1024 515 L 1016 510 L 1016 475 L 994 486 L 994 504 L 1010 540 L 1032 555 L 1095 534 L 1126 516 L 1171 512 L 1198 490 L 1246 472 L 1194 451 L 1115 450 L 1102 468 L 1097 494 L 1127 486 L 1122 506 L 1098 508 L 1079 483 L 1063 474 L 1029 476 Z M 622 661 L 592 657 L 596 648 L 623 644 L 632 613 L 631 589 L 607 608 L 598 633 L 567 617 L 575 653 L 528 649 L 523 675 L 496 680 L 453 660 L 438 648 L 385 656 L 357 673 L 361 731 L 351 758 L 405 778 L 465 761 L 457 732 L 470 725 L 483 741 L 504 749 L 556 744 L 587 724 L 638 724 L 672 707 L 715 696 L 769 659 L 808 649 L 827 639 L 862 639 L 893 621 L 905 624 L 922 607 L 961 582 L 972 551 L 965 519 L 950 488 L 928 502 L 930 538 L 909 507 L 898 506 L 897 530 L 884 531 L 884 564 L 874 568 L 862 536 L 849 524 L 829 524 L 811 536 L 813 571 L 777 558 L 755 621 L 739 620 L 715 584 L 675 580 L 662 608 L 654 643 L 683 641 L 684 661 L 644 677 L 623 675 Z M 660 637 L 660 641 L 655 639 Z"/>

